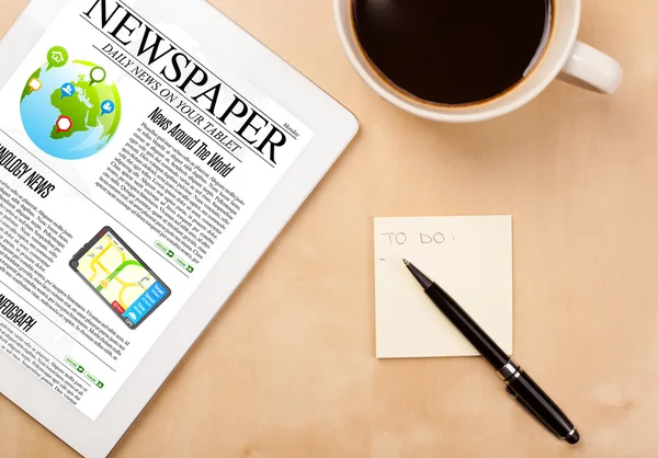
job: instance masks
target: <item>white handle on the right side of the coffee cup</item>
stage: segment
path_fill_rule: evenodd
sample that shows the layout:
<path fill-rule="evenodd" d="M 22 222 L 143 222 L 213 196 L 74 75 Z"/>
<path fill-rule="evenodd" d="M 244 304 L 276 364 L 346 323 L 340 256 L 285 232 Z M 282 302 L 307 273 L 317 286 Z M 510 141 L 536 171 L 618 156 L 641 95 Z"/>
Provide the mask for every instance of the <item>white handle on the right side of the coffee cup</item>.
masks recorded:
<path fill-rule="evenodd" d="M 622 83 L 620 62 L 599 49 L 576 42 L 571 57 L 557 79 L 601 94 L 612 94 Z"/>

